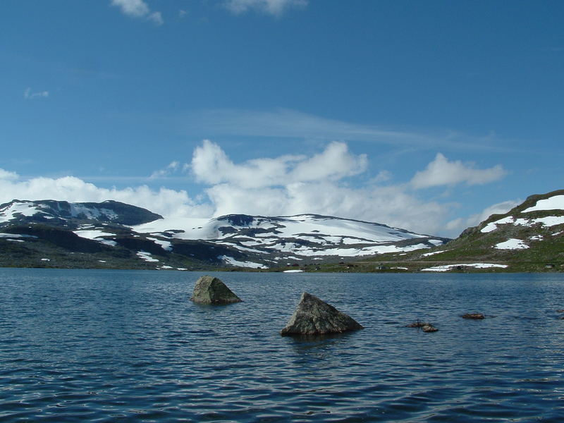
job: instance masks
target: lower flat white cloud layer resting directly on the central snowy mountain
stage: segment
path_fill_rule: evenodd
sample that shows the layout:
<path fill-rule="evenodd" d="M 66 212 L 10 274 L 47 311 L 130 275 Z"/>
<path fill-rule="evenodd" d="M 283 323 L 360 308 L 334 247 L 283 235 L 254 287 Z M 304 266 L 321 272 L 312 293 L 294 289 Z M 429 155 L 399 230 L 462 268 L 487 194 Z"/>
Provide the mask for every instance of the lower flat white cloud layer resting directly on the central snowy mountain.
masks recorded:
<path fill-rule="evenodd" d="M 240 188 L 227 183 L 207 190 L 215 216 L 238 213 L 281 216 L 303 213 L 341 216 L 436 233 L 448 206 L 424 202 L 401 186 L 349 188 L 335 182 L 292 183 L 280 188 Z"/>

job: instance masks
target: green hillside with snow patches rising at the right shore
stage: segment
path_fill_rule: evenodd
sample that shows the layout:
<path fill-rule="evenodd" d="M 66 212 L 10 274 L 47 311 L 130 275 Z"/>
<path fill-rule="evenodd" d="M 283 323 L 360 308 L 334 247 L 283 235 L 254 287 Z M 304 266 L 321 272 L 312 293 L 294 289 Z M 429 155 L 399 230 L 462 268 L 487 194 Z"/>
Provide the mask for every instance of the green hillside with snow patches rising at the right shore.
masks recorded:
<path fill-rule="evenodd" d="M 532 195 L 440 247 L 378 260 L 405 271 L 562 271 L 564 190 Z M 371 265 L 376 263 L 360 267 Z"/>

